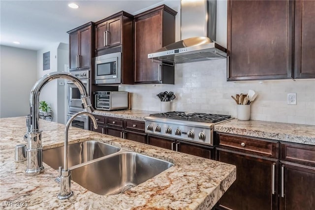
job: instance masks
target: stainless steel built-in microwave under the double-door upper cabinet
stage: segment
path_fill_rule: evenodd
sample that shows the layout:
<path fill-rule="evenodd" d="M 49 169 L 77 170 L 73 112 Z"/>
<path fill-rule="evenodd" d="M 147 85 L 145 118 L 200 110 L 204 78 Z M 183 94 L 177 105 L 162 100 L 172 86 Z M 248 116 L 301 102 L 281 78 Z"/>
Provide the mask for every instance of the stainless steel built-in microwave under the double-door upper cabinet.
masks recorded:
<path fill-rule="evenodd" d="M 121 83 L 121 53 L 95 57 L 95 85 Z"/>

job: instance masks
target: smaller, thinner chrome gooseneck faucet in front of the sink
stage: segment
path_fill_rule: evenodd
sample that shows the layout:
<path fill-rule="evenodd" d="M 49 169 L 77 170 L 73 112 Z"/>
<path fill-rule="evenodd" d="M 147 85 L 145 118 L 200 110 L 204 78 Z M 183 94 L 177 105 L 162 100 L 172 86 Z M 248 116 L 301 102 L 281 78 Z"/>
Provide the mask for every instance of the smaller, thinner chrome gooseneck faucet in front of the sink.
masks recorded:
<path fill-rule="evenodd" d="M 71 125 L 72 120 L 74 120 L 79 115 L 87 115 L 89 116 L 94 124 L 95 129 L 97 129 L 97 122 L 95 117 L 88 113 L 88 112 L 78 112 L 73 115 L 66 123 L 65 130 L 64 130 L 64 150 L 63 150 L 63 169 L 59 167 L 59 177 L 56 179 L 60 182 L 60 192 L 58 194 L 58 199 L 67 199 L 73 195 L 73 192 L 70 189 L 71 186 L 71 178 L 70 178 L 70 171 L 68 169 L 68 130 L 69 126 Z"/>

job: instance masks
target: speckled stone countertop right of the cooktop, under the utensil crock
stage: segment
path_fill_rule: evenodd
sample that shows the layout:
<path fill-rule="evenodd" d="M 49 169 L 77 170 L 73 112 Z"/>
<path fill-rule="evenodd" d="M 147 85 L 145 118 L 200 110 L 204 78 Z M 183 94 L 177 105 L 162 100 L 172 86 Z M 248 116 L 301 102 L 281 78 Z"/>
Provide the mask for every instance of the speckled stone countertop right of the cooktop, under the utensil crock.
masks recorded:
<path fill-rule="evenodd" d="M 216 124 L 215 131 L 315 145 L 315 125 L 234 119 Z"/>

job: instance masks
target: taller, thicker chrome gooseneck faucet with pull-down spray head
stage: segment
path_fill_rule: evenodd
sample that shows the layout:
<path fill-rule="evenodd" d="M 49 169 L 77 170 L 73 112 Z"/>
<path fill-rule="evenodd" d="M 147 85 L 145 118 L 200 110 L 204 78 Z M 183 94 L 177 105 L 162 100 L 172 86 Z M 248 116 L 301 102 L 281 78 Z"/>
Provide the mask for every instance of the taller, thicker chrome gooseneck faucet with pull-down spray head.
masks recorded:
<path fill-rule="evenodd" d="M 44 172 L 42 162 L 42 146 L 41 146 L 41 130 L 39 130 L 39 93 L 42 88 L 50 81 L 55 79 L 67 79 L 76 85 L 81 93 L 81 100 L 83 108 L 86 112 L 92 113 L 94 111 L 90 97 L 84 84 L 75 76 L 68 72 L 52 72 L 40 78 L 31 90 L 30 95 L 30 115 L 26 117 L 27 124 L 27 169 L 25 171 L 27 176 L 34 176 Z"/>

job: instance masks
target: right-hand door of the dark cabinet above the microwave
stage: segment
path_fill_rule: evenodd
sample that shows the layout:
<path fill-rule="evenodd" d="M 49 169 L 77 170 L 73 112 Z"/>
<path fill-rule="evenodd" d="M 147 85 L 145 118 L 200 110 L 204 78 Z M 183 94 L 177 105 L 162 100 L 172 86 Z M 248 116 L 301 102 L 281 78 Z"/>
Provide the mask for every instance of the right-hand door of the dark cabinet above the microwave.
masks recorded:
<path fill-rule="evenodd" d="M 122 21 L 121 17 L 107 21 L 107 47 L 121 45 L 122 40 Z M 106 39 L 106 37 L 105 37 Z M 106 44 L 106 43 L 105 43 Z"/>

